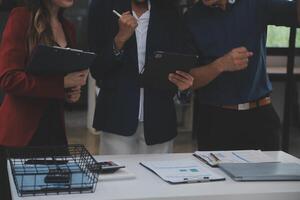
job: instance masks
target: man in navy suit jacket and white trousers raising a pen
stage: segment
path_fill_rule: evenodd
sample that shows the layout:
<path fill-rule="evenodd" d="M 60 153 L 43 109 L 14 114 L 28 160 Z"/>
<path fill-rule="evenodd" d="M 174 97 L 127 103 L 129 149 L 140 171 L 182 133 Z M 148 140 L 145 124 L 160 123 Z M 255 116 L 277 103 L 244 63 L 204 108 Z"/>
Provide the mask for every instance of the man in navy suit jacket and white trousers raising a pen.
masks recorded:
<path fill-rule="evenodd" d="M 175 93 L 143 88 L 139 77 L 153 52 L 183 53 L 187 49 L 180 15 L 173 2 L 94 0 L 91 3 L 90 47 L 99 55 L 91 74 L 100 87 L 94 128 L 102 131 L 101 154 L 172 152 L 177 135 Z M 178 72 L 169 78 L 178 80 L 180 90 L 193 84 L 193 77 L 187 73 Z"/>

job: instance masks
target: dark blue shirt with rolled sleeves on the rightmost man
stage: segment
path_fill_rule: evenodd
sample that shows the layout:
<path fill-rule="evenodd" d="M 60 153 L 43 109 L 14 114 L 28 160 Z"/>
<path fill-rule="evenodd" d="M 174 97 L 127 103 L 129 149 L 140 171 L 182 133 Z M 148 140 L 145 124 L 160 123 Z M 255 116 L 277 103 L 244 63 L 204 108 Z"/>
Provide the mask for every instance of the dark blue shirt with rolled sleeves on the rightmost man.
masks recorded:
<path fill-rule="evenodd" d="M 257 100 L 272 91 L 266 70 L 267 25 L 296 25 L 295 1 L 237 0 L 225 11 L 197 3 L 186 23 L 200 55 L 208 64 L 234 48 L 254 53 L 248 68 L 225 72 L 198 90 L 200 103 L 232 105 Z"/>

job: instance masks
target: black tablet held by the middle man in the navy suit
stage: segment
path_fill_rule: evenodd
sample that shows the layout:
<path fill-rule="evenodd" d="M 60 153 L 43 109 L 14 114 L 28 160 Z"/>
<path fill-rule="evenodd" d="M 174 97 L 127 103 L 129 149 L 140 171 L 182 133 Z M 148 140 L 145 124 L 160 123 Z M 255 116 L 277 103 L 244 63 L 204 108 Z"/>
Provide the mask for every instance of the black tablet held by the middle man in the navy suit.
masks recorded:
<path fill-rule="evenodd" d="M 169 74 L 177 70 L 189 72 L 197 64 L 197 55 L 156 51 L 141 74 L 141 85 L 144 88 L 176 91 L 177 86 L 169 81 Z"/>

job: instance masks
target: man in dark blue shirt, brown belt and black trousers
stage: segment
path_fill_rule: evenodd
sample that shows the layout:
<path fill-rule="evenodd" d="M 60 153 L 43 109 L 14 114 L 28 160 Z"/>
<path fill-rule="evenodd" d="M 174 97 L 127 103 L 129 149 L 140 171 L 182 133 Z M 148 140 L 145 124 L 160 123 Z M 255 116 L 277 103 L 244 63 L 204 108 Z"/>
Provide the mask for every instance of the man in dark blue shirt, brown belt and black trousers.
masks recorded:
<path fill-rule="evenodd" d="M 267 26 L 298 25 L 297 10 L 298 1 L 202 0 L 188 11 L 187 27 L 203 62 L 191 71 L 201 88 L 200 150 L 280 148 L 266 70 Z"/>

